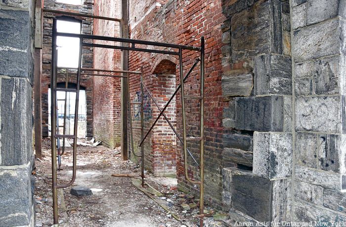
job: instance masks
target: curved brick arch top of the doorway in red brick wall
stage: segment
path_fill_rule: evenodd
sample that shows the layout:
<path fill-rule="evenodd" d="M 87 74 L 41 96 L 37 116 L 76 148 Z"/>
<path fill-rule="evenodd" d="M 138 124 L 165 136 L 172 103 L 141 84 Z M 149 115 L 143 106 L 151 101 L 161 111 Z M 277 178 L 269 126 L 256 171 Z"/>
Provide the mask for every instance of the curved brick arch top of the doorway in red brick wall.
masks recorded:
<path fill-rule="evenodd" d="M 151 74 L 172 73 L 175 74 L 176 65 L 178 65 L 178 59 L 172 55 L 161 55 L 153 65 Z"/>

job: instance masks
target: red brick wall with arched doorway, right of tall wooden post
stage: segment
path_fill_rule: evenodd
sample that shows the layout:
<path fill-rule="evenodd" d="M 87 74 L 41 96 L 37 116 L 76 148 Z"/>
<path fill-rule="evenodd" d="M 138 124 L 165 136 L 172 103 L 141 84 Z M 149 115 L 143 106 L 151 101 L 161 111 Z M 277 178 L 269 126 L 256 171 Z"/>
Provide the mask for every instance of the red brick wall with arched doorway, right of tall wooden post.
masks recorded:
<path fill-rule="evenodd" d="M 205 165 L 206 165 L 206 202 L 221 207 L 222 205 L 222 97 L 221 97 L 221 31 L 220 26 L 225 19 L 221 13 L 221 0 L 130 0 L 130 38 L 138 40 L 157 41 L 181 45 L 200 45 L 200 38 L 206 39 L 205 57 Z M 183 52 L 184 74 L 190 69 L 194 60 L 199 56 L 198 52 Z M 166 82 L 160 81 L 162 74 L 155 71 L 157 65 L 166 60 L 174 68 L 178 67 L 178 59 L 173 56 L 162 54 L 149 54 L 130 52 L 130 70 L 139 70 L 143 66 L 144 83 L 154 93 L 155 98 L 162 98 L 160 103 L 163 107 L 172 93 L 172 88 L 167 87 Z M 199 92 L 199 64 L 185 83 L 185 94 L 197 95 Z M 175 70 L 175 74 L 177 71 Z M 139 77 L 131 79 L 131 100 L 135 100 L 136 92 L 139 91 Z M 173 84 L 173 82 L 170 82 Z M 179 76 L 175 76 L 175 86 L 180 84 Z M 159 86 L 159 87 L 158 87 Z M 144 94 L 145 95 L 145 94 Z M 144 96 L 145 97 L 145 96 Z M 150 99 L 150 98 L 149 98 Z M 144 132 L 146 132 L 158 115 L 155 104 L 149 100 L 151 107 L 146 116 Z M 180 95 L 176 96 L 175 121 L 176 128 L 182 135 Z M 199 132 L 199 104 L 196 100 L 186 99 L 187 135 L 198 136 Z M 172 107 L 172 106 L 170 106 Z M 174 108 L 167 112 L 174 115 Z M 197 189 L 184 179 L 184 164 L 182 160 L 182 147 L 179 140 L 173 137 L 173 131 L 165 122 L 159 120 L 160 126 L 154 128 L 154 132 L 145 140 L 146 168 L 157 175 L 172 173 L 171 165 L 176 166 L 176 175 L 180 189 L 191 190 L 198 193 Z M 160 132 L 164 130 L 165 132 Z M 156 134 L 157 132 L 157 134 Z M 160 144 L 160 146 L 159 146 Z M 194 157 L 199 160 L 199 145 L 197 140 L 189 140 L 188 148 Z M 165 149 L 164 146 L 167 146 Z M 176 148 L 175 148 L 176 146 Z M 172 149 L 176 149 L 176 158 Z M 162 164 L 163 162 L 163 164 Z M 176 162 L 176 164 L 174 164 Z M 188 172 L 190 177 L 198 179 L 199 169 L 191 158 L 188 158 Z M 158 165 L 156 165 L 158 164 Z"/>

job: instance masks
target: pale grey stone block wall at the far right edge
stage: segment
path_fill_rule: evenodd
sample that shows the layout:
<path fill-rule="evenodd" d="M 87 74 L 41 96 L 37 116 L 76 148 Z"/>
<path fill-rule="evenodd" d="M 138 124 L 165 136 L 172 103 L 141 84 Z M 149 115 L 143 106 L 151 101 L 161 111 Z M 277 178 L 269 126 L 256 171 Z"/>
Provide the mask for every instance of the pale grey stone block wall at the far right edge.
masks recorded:
<path fill-rule="evenodd" d="M 294 221 L 345 221 L 345 2 L 292 1 Z"/>

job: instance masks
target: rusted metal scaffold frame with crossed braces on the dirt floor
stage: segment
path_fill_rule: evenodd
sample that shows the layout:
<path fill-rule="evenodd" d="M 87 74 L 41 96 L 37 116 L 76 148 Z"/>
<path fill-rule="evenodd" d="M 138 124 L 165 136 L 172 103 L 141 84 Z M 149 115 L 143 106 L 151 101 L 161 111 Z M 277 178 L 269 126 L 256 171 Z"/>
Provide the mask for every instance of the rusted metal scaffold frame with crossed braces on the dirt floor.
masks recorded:
<path fill-rule="evenodd" d="M 56 13 L 56 12 L 55 12 Z M 61 12 L 61 14 L 64 14 L 64 12 Z M 102 18 L 105 19 L 105 18 Z M 142 185 L 144 185 L 144 148 L 143 148 L 143 142 L 145 138 L 149 135 L 151 130 L 154 128 L 155 124 L 159 120 L 161 116 L 164 116 L 166 121 L 169 123 L 171 128 L 173 129 L 173 132 L 178 137 L 178 139 L 182 142 L 183 145 L 183 159 L 184 159 L 184 174 L 185 179 L 188 182 L 191 182 L 193 184 L 200 185 L 200 217 L 203 217 L 203 210 L 204 210 L 204 37 L 201 38 L 201 46 L 189 46 L 189 45 L 175 45 L 175 44 L 167 44 L 167 43 L 159 43 L 159 42 L 150 42 L 150 41 L 142 41 L 142 40 L 133 40 L 133 39 L 125 39 L 125 38 L 114 38 L 114 37 L 104 37 L 104 36 L 95 36 L 95 35 L 85 35 L 85 34 L 71 34 L 71 33 L 60 33 L 57 32 L 56 27 L 56 18 L 53 19 L 53 32 L 52 32 L 52 60 L 51 60 L 51 124 L 56 123 L 56 92 L 57 91 L 65 91 L 65 92 L 76 92 L 76 107 L 75 107 L 75 119 L 74 119 L 74 134 L 73 135 L 59 135 L 56 133 L 56 127 L 51 128 L 51 156 L 52 156 L 52 189 L 53 189 L 53 221 L 54 224 L 58 224 L 58 201 L 57 201 L 57 189 L 58 188 L 64 188 L 71 186 L 73 182 L 76 179 L 76 169 L 77 169 L 77 126 L 78 126 L 78 102 L 79 102 L 79 90 L 80 90 L 80 80 L 81 75 L 90 75 L 90 76 L 111 76 L 111 77 L 123 77 L 127 78 L 128 80 L 128 92 L 130 93 L 130 74 L 141 74 L 140 76 L 140 86 L 141 86 L 141 142 L 139 146 L 141 147 L 141 177 L 142 177 Z M 68 89 L 68 88 L 57 88 L 57 45 L 56 40 L 57 37 L 72 37 L 72 38 L 79 38 L 80 40 L 80 51 L 79 51 L 79 61 L 78 61 L 78 68 L 77 70 L 77 88 L 76 89 Z M 122 44 L 129 44 L 127 45 L 100 45 L 100 44 L 94 44 L 94 43 L 86 43 L 85 40 L 98 40 L 98 41 L 111 41 L 111 42 L 118 42 Z M 139 48 L 136 47 L 136 45 L 147 45 L 151 48 Z M 154 97 L 151 95 L 149 90 L 145 87 L 143 82 L 143 75 L 142 75 L 142 69 L 141 72 L 133 72 L 133 71 L 123 71 L 123 70 L 115 70 L 112 72 L 122 73 L 122 75 L 108 75 L 108 74 L 93 74 L 93 73 L 82 73 L 82 71 L 98 71 L 98 72 L 107 72 L 107 70 L 102 69 L 88 69 L 88 68 L 82 68 L 82 49 L 83 46 L 89 46 L 89 47 L 100 47 L 100 48 L 113 48 L 113 49 L 122 49 L 122 50 L 131 50 L 131 51 L 141 51 L 141 52 L 150 52 L 150 53 L 161 53 L 161 54 L 170 54 L 178 56 L 179 58 L 179 76 L 180 76 L 180 85 L 176 88 L 174 91 L 172 97 L 167 102 L 165 107 L 161 109 L 154 99 Z M 158 50 L 158 49 L 152 49 L 152 47 L 166 47 L 171 48 L 174 50 Z M 198 51 L 200 52 L 200 58 L 195 61 L 195 63 L 192 65 L 190 70 L 187 72 L 185 76 L 183 76 L 183 58 L 182 58 L 182 51 L 183 50 L 190 50 L 190 51 Z M 188 78 L 188 76 L 191 74 L 193 69 L 196 67 L 196 65 L 200 62 L 200 94 L 199 96 L 190 96 L 190 95 L 184 95 L 184 82 Z M 109 71 L 108 71 L 109 72 Z M 126 76 L 125 76 L 126 74 Z M 146 133 L 145 136 L 143 136 L 143 88 L 149 93 L 150 97 L 153 99 L 154 103 L 160 110 L 159 116 L 156 118 L 154 124 L 150 127 L 149 131 Z M 173 100 L 173 97 L 177 94 L 177 92 L 180 89 L 181 94 L 181 110 L 182 110 L 182 138 L 178 135 L 177 131 L 174 129 L 172 123 L 170 120 L 166 117 L 164 114 L 164 111 L 170 104 L 170 102 Z M 187 149 L 187 136 L 186 136 L 186 112 L 185 112 L 185 98 L 190 99 L 196 99 L 200 101 L 200 135 L 198 137 L 193 137 L 194 139 L 197 139 L 200 141 L 200 162 L 199 164 L 197 161 L 193 158 L 190 151 Z M 130 104 L 139 104 L 130 102 L 130 95 L 129 95 L 129 111 L 130 111 Z M 131 119 L 131 113 L 130 113 L 130 140 L 131 140 L 131 149 L 134 154 L 133 150 L 133 136 L 132 136 L 132 119 Z M 57 157 L 57 147 L 56 147 L 56 141 L 60 138 L 73 138 L 73 174 L 72 174 L 72 180 L 64 185 L 57 184 L 57 164 L 56 164 L 56 157 Z M 188 164 L 187 164 L 187 154 L 190 154 L 190 156 L 193 158 L 193 160 L 198 164 L 200 168 L 200 180 L 192 180 L 188 176 Z M 134 154 L 135 155 L 135 154 Z M 138 155 L 135 155 L 138 156 Z M 200 224 L 203 226 L 203 218 L 200 218 Z"/>

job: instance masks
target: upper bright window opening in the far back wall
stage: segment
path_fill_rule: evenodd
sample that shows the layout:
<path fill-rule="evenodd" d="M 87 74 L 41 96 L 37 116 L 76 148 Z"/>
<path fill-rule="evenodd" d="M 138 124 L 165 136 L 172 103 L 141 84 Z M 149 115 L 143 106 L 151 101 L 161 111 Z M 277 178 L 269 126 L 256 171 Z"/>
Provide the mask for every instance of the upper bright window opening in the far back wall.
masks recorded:
<path fill-rule="evenodd" d="M 67 20 L 57 20 L 58 32 L 81 34 L 81 23 Z M 61 37 L 56 38 L 58 46 L 58 67 L 78 67 L 79 38 Z"/>

